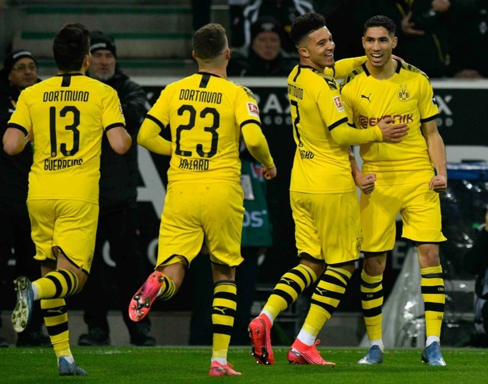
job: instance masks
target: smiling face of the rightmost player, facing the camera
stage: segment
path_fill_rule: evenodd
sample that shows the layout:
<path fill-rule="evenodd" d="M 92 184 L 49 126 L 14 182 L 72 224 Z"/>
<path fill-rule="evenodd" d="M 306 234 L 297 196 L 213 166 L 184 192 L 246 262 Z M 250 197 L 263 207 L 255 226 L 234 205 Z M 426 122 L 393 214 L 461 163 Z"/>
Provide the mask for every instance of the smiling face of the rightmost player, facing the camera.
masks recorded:
<path fill-rule="evenodd" d="M 370 27 L 362 38 L 366 56 L 373 67 L 383 67 L 391 58 L 397 38 L 384 27 Z"/>

